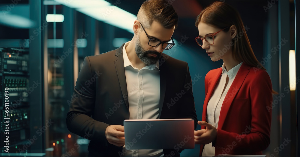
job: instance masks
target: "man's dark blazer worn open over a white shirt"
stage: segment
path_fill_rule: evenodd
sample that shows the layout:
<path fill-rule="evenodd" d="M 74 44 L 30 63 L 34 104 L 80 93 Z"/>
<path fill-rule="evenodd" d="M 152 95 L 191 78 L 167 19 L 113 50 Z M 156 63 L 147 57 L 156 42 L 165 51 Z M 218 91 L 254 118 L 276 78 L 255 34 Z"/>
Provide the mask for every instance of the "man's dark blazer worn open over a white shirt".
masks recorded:
<path fill-rule="evenodd" d="M 129 119 L 123 46 L 85 57 L 73 97 L 68 101 L 67 128 L 91 140 L 89 155 L 120 156 L 122 152 L 122 146 L 108 143 L 105 130 L 109 125 L 123 125 L 123 121 Z M 197 117 L 187 63 L 163 54 L 159 70 L 159 119 L 192 118 L 196 129 Z M 168 156 L 179 155 L 179 152 L 181 150 L 164 149 Z"/>

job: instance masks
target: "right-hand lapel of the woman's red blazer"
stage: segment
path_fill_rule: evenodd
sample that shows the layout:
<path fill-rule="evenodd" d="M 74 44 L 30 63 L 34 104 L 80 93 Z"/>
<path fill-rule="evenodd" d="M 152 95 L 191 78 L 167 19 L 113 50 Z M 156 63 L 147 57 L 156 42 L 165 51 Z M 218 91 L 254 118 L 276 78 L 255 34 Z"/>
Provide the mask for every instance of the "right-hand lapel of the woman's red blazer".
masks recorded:
<path fill-rule="evenodd" d="M 228 113 L 228 110 L 230 108 L 230 105 L 231 105 L 233 99 L 235 98 L 236 94 L 240 90 L 241 85 L 243 84 L 246 76 L 248 75 L 249 69 L 250 69 L 250 66 L 247 66 L 245 63 L 243 63 L 241 65 L 240 69 L 238 70 L 238 73 L 236 74 L 236 76 L 225 96 L 225 99 L 224 99 L 222 107 L 221 107 L 219 124 L 218 124 L 219 129 L 222 129 L 222 126 L 224 124 L 224 121 L 225 121 L 226 115 Z"/>

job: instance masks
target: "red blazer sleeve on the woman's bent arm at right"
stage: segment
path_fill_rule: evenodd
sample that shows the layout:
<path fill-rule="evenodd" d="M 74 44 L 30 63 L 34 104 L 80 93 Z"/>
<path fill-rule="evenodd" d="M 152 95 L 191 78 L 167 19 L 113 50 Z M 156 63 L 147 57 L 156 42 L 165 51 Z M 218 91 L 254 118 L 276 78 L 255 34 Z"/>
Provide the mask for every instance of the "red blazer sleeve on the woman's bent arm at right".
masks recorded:
<path fill-rule="evenodd" d="M 217 129 L 215 147 L 226 149 L 233 145 L 233 149 L 247 152 L 264 150 L 270 144 L 271 110 L 267 106 L 272 102 L 272 85 L 267 72 L 252 75 L 250 84 L 251 126 L 250 133 L 236 134 Z M 242 117 L 241 117 L 242 118 Z"/>

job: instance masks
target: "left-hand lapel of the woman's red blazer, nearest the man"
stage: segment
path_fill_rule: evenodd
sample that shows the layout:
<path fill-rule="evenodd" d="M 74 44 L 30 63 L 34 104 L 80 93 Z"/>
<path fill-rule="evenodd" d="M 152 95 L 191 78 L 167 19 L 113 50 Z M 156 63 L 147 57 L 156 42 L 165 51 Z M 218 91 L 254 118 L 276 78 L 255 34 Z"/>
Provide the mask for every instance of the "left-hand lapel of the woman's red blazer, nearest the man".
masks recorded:
<path fill-rule="evenodd" d="M 207 82 L 207 87 L 208 87 L 208 90 L 205 91 L 205 93 L 207 92 L 207 94 L 205 95 L 205 100 L 204 100 L 204 104 L 203 104 L 203 111 L 202 111 L 202 121 L 205 121 L 206 122 L 206 117 L 207 117 L 207 113 L 206 113 L 206 110 L 207 110 L 207 104 L 208 104 L 208 101 L 211 97 L 211 94 L 212 92 L 214 91 L 214 87 L 216 86 L 220 76 L 221 76 L 221 73 L 222 73 L 222 68 L 218 68 L 216 69 L 216 73 L 213 73 L 212 75 L 211 74 L 208 74 L 208 82 Z M 211 79 L 210 79 L 211 78 Z M 206 84 L 206 82 L 205 82 Z M 206 89 L 205 89 L 206 90 Z M 205 129 L 205 126 L 201 126 L 201 129 Z"/>

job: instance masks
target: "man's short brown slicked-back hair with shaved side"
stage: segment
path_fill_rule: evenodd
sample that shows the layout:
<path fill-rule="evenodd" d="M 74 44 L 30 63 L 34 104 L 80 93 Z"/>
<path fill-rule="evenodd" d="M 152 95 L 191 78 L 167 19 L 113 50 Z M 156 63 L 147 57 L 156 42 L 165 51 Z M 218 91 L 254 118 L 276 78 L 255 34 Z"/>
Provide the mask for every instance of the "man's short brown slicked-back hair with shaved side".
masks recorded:
<path fill-rule="evenodd" d="M 146 0 L 137 14 L 137 20 L 146 28 L 150 28 L 153 21 L 167 29 L 172 29 L 174 26 L 176 29 L 178 25 L 177 13 L 166 0 Z"/>

